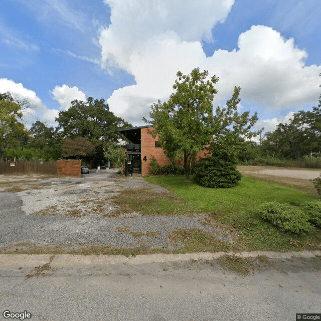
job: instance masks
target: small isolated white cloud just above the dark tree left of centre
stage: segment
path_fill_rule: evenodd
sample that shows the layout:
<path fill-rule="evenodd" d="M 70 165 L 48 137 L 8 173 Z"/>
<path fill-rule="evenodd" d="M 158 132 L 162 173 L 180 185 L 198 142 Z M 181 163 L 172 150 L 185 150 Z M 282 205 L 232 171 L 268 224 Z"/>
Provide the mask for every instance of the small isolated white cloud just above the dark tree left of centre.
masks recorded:
<path fill-rule="evenodd" d="M 67 110 L 71 106 L 71 102 L 75 99 L 86 101 L 86 95 L 76 86 L 69 87 L 66 84 L 56 86 L 52 90 L 53 99 L 60 104 L 60 109 Z"/>

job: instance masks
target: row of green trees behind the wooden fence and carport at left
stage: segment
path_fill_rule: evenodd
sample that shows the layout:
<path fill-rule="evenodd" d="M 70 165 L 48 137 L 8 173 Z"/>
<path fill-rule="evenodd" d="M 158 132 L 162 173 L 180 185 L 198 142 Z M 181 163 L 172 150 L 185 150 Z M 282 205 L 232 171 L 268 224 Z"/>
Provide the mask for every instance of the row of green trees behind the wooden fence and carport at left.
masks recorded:
<path fill-rule="evenodd" d="M 11 93 L 0 94 L 0 160 L 56 161 L 65 155 L 95 155 L 120 138 L 118 129 L 131 126 L 109 110 L 104 99 L 74 100 L 60 111 L 56 128 L 37 120 L 30 129 L 23 122 L 22 105 Z"/>

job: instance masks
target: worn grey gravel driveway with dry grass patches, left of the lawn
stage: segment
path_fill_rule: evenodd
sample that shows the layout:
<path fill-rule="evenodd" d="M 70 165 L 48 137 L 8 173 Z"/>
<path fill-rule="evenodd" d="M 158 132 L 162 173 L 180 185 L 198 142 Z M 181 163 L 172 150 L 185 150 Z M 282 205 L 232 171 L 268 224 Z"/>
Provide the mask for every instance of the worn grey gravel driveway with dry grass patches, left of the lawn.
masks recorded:
<path fill-rule="evenodd" d="M 181 244 L 169 242 L 168 234 L 176 228 L 212 231 L 230 242 L 224 231 L 199 221 L 205 215 L 112 216 L 111 200 L 121 189 L 147 185 L 154 192 L 165 190 L 141 177 L 117 175 L 114 170 L 81 178 L 2 175 L 0 184 L 1 253 L 27 253 L 37 248 L 70 253 L 88 246 L 174 250 Z"/>

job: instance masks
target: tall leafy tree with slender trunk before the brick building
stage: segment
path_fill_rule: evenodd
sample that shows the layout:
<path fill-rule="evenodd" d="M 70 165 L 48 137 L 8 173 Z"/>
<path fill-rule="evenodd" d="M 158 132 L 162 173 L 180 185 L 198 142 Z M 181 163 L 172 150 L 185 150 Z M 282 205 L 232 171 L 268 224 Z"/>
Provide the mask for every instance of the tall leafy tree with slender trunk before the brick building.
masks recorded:
<path fill-rule="evenodd" d="M 185 180 L 190 180 L 191 159 L 205 148 L 213 136 L 212 101 L 217 90 L 214 84 L 218 77 L 208 77 L 208 71 L 192 70 L 190 75 L 178 72 L 173 88 L 175 92 L 168 102 L 153 104 L 150 120 L 154 127 L 153 137 L 158 135 L 166 155 L 174 160 L 184 158 Z"/>

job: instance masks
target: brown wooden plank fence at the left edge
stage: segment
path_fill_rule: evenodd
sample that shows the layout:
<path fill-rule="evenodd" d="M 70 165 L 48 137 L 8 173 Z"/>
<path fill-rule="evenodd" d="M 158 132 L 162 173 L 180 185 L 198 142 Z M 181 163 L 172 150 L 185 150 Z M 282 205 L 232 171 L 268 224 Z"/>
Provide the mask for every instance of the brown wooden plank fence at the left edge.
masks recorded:
<path fill-rule="evenodd" d="M 57 162 L 0 162 L 0 174 L 57 174 Z"/>

